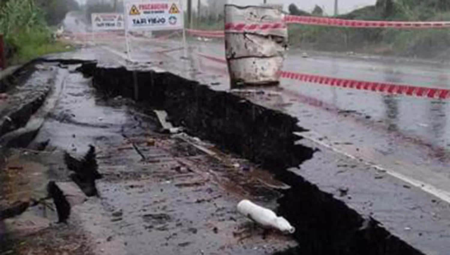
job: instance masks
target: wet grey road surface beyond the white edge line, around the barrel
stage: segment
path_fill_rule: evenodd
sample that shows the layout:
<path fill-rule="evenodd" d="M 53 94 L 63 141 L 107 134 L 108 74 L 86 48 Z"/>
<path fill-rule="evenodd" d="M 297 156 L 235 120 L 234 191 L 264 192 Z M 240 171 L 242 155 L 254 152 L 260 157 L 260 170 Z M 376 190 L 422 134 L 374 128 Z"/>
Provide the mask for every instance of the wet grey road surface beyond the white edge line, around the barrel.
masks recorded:
<path fill-rule="evenodd" d="M 121 40 L 102 40 L 108 49 L 125 52 Z M 220 42 L 189 41 L 186 60 L 177 40 L 130 40 L 130 57 L 210 84 L 229 89 L 226 65 L 198 55 L 223 58 Z M 125 54 L 123 54 L 125 56 Z M 126 56 L 125 56 L 126 57 Z M 284 70 L 363 81 L 386 81 L 448 88 L 447 65 L 364 57 L 288 54 Z M 371 165 L 392 170 L 398 178 L 418 183 L 450 201 L 450 129 L 446 100 L 387 95 L 282 80 L 280 96 L 265 103 L 299 119 L 311 130 L 306 137 Z M 258 102 L 261 102 L 258 101 Z M 263 100 L 264 102 L 264 100 Z M 263 104 L 265 104 L 263 103 Z"/>

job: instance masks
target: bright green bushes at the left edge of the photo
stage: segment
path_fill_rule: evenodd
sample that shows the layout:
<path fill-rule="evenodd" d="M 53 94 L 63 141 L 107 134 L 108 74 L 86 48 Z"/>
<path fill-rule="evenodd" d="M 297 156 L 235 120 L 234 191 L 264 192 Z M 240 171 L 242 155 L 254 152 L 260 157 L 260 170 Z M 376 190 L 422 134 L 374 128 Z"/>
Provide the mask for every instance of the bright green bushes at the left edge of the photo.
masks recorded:
<path fill-rule="evenodd" d="M 47 4 L 40 6 L 40 2 Z M 61 15 L 59 0 L 1 0 L 0 33 L 4 34 L 7 58 L 11 64 L 23 63 L 45 54 L 67 50 L 54 40 L 48 26 L 58 24 Z M 64 11 L 64 9 L 62 9 Z"/>

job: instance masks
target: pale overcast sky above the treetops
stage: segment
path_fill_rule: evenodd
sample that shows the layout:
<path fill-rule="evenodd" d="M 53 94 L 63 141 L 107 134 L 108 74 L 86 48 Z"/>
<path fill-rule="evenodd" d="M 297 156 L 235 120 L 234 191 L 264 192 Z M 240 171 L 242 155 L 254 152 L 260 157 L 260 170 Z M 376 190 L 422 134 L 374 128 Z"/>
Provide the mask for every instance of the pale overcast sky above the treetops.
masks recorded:
<path fill-rule="evenodd" d="M 84 3 L 86 0 L 77 0 L 80 3 Z M 87 0 L 89 1 L 89 0 Z M 128 0 L 130 2 L 142 2 L 146 0 Z M 147 0 L 152 1 L 152 0 Z M 202 0 L 202 2 L 206 2 L 206 0 Z M 260 4 L 263 0 L 229 0 L 229 3 L 240 4 L 240 5 L 249 5 L 249 4 Z M 324 8 L 325 13 L 333 14 L 334 9 L 334 0 L 267 0 L 268 3 L 276 3 L 276 4 L 284 4 L 284 9 L 288 8 L 289 4 L 297 4 L 300 9 L 304 9 L 306 11 L 311 11 L 314 8 L 314 5 L 317 4 L 320 7 Z M 376 0 L 339 0 L 339 13 L 346 13 L 353 9 L 360 8 L 365 5 L 375 4 Z M 186 0 L 184 0 L 186 3 Z M 193 0 L 194 6 L 197 6 L 197 0 Z"/>

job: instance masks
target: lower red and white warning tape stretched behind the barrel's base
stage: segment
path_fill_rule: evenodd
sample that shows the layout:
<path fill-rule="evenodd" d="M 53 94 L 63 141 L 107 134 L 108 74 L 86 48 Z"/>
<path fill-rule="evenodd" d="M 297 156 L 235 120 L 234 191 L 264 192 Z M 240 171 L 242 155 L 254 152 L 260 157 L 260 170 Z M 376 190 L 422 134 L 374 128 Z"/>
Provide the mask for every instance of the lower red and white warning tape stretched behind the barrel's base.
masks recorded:
<path fill-rule="evenodd" d="M 204 54 L 198 55 L 218 63 L 226 63 L 226 60 L 223 58 L 217 58 Z M 348 89 L 368 90 L 387 94 L 399 94 L 399 95 L 439 98 L 439 99 L 450 98 L 450 89 L 427 88 L 427 87 L 418 87 L 413 85 L 402 85 L 385 82 L 356 81 L 350 79 L 341 79 L 328 76 L 304 74 L 298 72 L 287 72 L 287 71 L 281 71 L 280 77 L 297 81 L 305 81 L 309 83 L 317 83 L 322 85 L 336 86 Z"/>

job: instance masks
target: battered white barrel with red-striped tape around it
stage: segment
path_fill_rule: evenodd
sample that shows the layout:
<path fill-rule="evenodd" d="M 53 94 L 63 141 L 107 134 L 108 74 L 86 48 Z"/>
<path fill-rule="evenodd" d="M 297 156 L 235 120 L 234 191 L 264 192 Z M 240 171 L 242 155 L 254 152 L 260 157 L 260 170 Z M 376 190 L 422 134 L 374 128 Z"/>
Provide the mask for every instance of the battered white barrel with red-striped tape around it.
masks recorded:
<path fill-rule="evenodd" d="M 278 85 L 287 44 L 280 9 L 225 4 L 225 55 L 232 88 Z"/>

